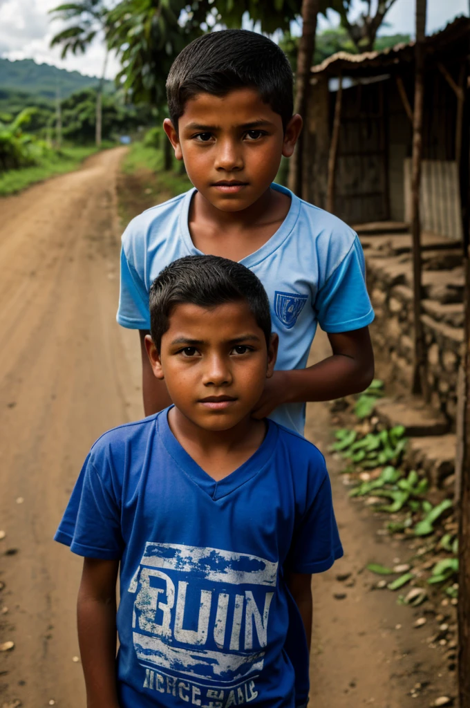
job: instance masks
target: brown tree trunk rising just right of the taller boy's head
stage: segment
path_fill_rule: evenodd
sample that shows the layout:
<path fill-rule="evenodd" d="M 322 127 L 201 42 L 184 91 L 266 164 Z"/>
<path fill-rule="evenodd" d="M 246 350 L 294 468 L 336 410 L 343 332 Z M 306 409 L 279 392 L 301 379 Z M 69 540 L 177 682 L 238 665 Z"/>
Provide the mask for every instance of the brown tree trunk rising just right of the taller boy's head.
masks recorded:
<path fill-rule="evenodd" d="M 306 108 L 310 91 L 311 63 L 315 52 L 316 16 L 319 0 L 302 0 L 302 37 L 297 54 L 297 74 L 295 76 L 294 113 L 300 113 L 306 126 Z M 304 129 L 305 130 L 305 129 Z M 290 190 L 302 197 L 303 132 L 299 135 L 297 147 L 290 161 L 288 185 Z"/>

